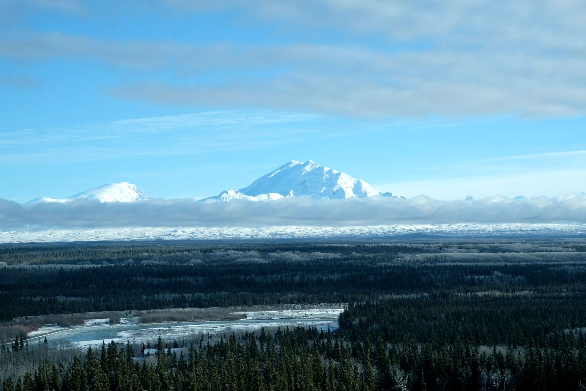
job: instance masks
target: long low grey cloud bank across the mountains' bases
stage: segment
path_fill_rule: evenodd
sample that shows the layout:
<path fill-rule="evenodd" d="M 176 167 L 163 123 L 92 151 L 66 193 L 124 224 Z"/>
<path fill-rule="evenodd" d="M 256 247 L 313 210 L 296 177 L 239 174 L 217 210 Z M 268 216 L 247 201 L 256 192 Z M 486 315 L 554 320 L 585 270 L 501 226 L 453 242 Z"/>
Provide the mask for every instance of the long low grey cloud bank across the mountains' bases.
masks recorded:
<path fill-rule="evenodd" d="M 312 200 L 285 198 L 271 202 L 197 202 L 153 199 L 135 203 L 21 205 L 0 199 L 0 230 L 103 227 L 260 227 L 362 226 L 455 223 L 586 223 L 586 196 L 568 195 L 511 200 L 410 199 Z"/>

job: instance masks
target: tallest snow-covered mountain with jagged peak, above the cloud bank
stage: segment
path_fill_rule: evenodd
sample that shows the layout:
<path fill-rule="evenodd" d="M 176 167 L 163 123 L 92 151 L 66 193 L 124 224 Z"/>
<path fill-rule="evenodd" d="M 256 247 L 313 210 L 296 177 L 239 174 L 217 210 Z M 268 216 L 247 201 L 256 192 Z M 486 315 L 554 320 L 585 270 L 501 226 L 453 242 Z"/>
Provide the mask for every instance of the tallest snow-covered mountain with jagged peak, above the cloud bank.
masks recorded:
<path fill-rule="evenodd" d="M 309 160 L 292 160 L 246 188 L 226 190 L 204 200 L 270 200 L 287 196 L 310 196 L 315 199 L 366 198 L 372 196 L 404 198 L 391 192 L 381 193 L 362 179 L 321 166 Z"/>

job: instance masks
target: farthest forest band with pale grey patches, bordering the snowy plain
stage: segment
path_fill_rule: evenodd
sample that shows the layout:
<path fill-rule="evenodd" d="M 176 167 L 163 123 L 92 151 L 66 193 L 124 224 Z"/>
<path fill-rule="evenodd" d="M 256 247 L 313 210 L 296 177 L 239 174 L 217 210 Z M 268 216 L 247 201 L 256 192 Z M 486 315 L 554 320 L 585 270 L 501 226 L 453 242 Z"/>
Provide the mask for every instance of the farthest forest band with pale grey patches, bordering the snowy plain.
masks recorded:
<path fill-rule="evenodd" d="M 485 254 L 485 256 L 478 256 Z M 490 256 L 495 254 L 496 256 Z M 0 246 L 0 265 L 46 264 L 149 264 L 216 261 L 309 261 L 318 259 L 376 260 L 379 262 L 499 261 L 509 262 L 585 261 L 586 243 L 549 242 L 462 242 L 462 243 L 272 243 L 221 245 L 177 244 L 88 244 L 68 246 Z M 516 256 L 515 256 L 516 254 Z M 532 254 L 531 257 L 523 254 Z M 552 254 L 554 256 L 552 256 Z"/>

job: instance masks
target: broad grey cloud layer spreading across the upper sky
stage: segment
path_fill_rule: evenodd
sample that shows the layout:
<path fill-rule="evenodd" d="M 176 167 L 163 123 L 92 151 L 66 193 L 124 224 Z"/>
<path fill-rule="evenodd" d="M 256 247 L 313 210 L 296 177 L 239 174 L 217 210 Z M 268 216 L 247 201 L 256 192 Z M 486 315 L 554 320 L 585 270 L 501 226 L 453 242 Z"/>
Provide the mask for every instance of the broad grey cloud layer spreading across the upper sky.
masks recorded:
<path fill-rule="evenodd" d="M 161 4 L 179 12 L 240 10 L 241 21 L 284 23 L 284 29 L 301 25 L 312 39 L 278 45 L 194 45 L 43 32 L 0 37 L 0 56 L 66 57 L 145 72 L 150 82 L 128 80 L 107 91 L 153 103 L 359 117 L 586 114 L 586 44 L 577 39 L 586 34 L 584 2 Z M 324 26 L 366 41 L 319 44 Z M 373 37 L 386 43 L 348 43 Z M 173 80 L 159 78 L 169 71 Z M 186 82 L 186 77 L 202 75 L 212 81 Z M 221 77 L 215 80 L 214 75 Z"/>

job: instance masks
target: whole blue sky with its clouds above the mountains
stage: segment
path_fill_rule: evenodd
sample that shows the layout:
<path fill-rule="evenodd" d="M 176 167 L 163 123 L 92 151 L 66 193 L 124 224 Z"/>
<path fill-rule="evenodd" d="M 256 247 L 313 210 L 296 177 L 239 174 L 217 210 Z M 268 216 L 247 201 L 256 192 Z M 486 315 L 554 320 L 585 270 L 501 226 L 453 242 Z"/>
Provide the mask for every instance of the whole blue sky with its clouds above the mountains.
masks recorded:
<path fill-rule="evenodd" d="M 0 198 L 203 198 L 291 159 L 406 196 L 586 191 L 581 2 L 199 4 L 2 2 Z"/>

